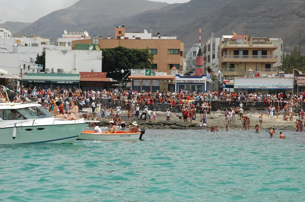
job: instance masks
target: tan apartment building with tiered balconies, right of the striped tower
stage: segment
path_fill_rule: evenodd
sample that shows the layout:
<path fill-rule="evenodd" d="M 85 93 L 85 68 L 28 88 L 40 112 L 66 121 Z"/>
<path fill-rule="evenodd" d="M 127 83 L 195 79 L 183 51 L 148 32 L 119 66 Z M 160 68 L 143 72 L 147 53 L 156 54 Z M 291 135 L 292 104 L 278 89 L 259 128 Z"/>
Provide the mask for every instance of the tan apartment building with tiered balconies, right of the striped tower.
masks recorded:
<path fill-rule="evenodd" d="M 224 76 L 278 74 L 282 60 L 282 40 L 248 35 L 223 36 L 219 43 L 219 65 Z"/>

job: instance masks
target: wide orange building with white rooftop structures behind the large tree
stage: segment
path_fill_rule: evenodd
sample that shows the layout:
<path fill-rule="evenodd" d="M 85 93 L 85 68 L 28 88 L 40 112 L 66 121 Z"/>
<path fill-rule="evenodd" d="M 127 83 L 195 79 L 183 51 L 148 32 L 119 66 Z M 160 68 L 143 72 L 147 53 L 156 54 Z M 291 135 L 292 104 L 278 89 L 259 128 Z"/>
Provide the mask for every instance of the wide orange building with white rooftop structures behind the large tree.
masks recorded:
<path fill-rule="evenodd" d="M 83 39 L 72 41 L 72 50 L 75 44 L 92 44 L 94 39 Z M 183 42 L 177 37 L 167 37 L 152 35 L 144 30 L 140 32 L 125 32 L 125 27 L 115 28 L 115 38 L 111 39 L 96 39 L 100 48 L 115 48 L 126 47 L 131 49 L 145 49 L 148 48 L 150 52 L 154 53 L 154 60 L 152 61 L 151 69 L 156 71 L 163 71 L 170 74 L 170 69 L 175 66 L 182 71 L 183 66 Z M 95 43 L 93 43 L 95 44 Z"/>

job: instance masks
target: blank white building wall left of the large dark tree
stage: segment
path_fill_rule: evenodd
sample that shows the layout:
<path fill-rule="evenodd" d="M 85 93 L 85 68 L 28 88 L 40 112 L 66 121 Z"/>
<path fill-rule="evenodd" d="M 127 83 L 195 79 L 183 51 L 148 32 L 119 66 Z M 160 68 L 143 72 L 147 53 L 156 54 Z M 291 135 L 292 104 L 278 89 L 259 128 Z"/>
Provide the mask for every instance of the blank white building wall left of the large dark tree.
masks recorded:
<path fill-rule="evenodd" d="M 50 69 L 63 68 L 71 72 L 76 68 L 79 71 L 102 71 L 102 51 L 98 50 L 45 50 L 45 66 Z"/>

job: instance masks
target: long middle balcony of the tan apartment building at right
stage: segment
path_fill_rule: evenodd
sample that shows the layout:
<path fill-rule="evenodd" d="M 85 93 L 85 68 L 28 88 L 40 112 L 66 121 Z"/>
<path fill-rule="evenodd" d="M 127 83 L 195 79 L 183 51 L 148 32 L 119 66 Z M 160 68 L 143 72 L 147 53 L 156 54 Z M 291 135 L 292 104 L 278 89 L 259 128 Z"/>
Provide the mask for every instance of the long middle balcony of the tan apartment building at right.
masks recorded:
<path fill-rule="evenodd" d="M 222 62 L 278 62 L 277 55 L 223 55 Z"/>

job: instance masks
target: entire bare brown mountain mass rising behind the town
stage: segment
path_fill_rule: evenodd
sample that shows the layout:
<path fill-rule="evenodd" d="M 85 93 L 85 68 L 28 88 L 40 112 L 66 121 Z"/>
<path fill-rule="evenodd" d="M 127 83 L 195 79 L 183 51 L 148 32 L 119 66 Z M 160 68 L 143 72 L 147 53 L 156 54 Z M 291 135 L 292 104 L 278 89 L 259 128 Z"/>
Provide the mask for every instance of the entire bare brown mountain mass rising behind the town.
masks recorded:
<path fill-rule="evenodd" d="M 221 37 L 235 31 L 253 37 L 282 38 L 284 50 L 289 51 L 299 45 L 296 29 L 305 29 L 304 22 L 305 0 L 191 0 L 170 5 L 145 0 L 81 0 L 41 18 L 39 34 L 55 39 L 63 30 L 86 30 L 91 36 L 106 38 L 114 36 L 115 26 L 141 32 L 151 28 L 153 34 L 177 36 L 184 42 L 186 53 L 198 43 L 201 26 L 202 42 L 211 32 Z M 37 22 L 27 26 L 25 32 L 33 32 L 33 27 Z"/>

